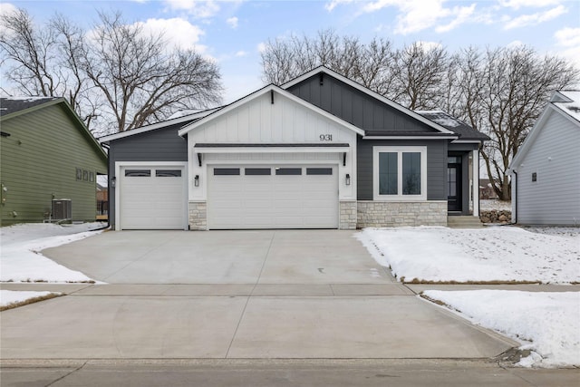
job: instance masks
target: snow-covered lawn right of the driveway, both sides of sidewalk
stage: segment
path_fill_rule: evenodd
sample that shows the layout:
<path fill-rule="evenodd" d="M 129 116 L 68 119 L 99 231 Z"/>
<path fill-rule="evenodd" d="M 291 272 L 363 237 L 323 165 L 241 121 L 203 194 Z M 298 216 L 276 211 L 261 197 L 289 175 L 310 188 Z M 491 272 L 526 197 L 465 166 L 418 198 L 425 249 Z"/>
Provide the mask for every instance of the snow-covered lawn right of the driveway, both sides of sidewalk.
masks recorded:
<path fill-rule="evenodd" d="M 401 281 L 580 282 L 580 228 L 367 228 L 357 237 Z M 520 365 L 580 365 L 579 292 L 428 290 L 424 295 L 519 340 L 520 349 L 532 351 Z"/>

